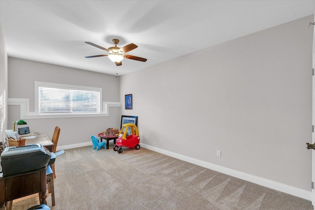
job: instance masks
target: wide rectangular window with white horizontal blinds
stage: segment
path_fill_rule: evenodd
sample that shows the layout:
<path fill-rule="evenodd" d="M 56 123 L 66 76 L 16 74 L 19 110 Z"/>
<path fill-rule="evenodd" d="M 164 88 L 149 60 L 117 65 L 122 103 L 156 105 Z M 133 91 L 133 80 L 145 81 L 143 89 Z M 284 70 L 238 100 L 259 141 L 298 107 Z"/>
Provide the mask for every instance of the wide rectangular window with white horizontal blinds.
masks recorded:
<path fill-rule="evenodd" d="M 35 82 L 39 114 L 99 114 L 102 89 Z M 36 100 L 35 100 L 36 101 Z"/>

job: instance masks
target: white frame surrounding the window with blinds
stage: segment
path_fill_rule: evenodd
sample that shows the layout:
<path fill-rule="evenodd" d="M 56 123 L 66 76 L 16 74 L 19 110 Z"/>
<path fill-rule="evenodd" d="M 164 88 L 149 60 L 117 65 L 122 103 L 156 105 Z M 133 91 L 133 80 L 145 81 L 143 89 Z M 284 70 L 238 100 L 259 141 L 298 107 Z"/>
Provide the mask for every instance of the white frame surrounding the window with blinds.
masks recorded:
<path fill-rule="evenodd" d="M 57 83 L 46 83 L 46 82 L 34 82 L 34 99 L 35 99 L 35 113 L 40 116 L 55 116 L 55 117 L 93 117 L 95 115 L 100 115 L 103 113 L 103 99 L 102 99 L 102 89 L 101 88 L 95 88 L 95 87 L 85 87 L 85 86 L 75 86 L 75 85 L 65 85 L 65 84 L 57 84 Z M 38 111 L 38 88 L 41 87 L 47 87 L 47 88 L 58 88 L 58 89 L 72 89 L 72 90 L 85 90 L 85 91 L 97 91 L 100 93 L 99 98 L 99 113 L 39 113 Z"/>

